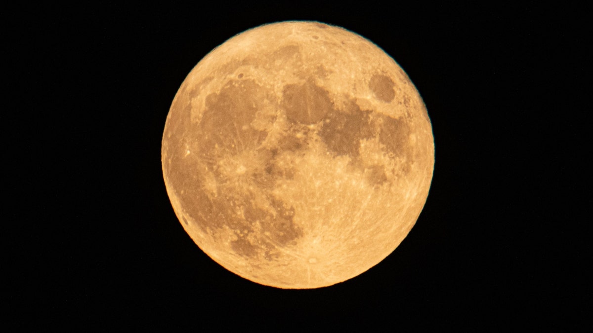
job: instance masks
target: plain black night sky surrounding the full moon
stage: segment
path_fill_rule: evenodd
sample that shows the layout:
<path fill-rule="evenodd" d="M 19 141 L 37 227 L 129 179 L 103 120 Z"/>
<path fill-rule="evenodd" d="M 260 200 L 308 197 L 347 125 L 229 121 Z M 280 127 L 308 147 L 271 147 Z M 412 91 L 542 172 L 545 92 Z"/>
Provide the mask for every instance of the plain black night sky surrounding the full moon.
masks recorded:
<path fill-rule="evenodd" d="M 584 9 L 361 2 L 27 6 L 6 11 L 4 302 L 14 328 L 591 328 L 591 36 Z M 184 232 L 165 191 L 171 101 L 213 47 L 318 20 L 374 41 L 425 101 L 428 201 L 351 280 L 244 280 Z"/>

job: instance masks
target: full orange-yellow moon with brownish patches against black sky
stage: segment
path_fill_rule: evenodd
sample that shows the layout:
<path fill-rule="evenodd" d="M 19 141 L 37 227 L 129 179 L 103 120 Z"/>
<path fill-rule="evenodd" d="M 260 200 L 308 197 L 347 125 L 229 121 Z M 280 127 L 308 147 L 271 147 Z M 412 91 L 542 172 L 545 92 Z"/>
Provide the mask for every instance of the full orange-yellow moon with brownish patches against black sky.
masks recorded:
<path fill-rule="evenodd" d="M 259 284 L 311 289 L 397 248 L 428 197 L 434 140 L 415 86 L 379 47 L 288 21 L 200 60 L 171 104 L 161 162 L 209 257 Z"/>

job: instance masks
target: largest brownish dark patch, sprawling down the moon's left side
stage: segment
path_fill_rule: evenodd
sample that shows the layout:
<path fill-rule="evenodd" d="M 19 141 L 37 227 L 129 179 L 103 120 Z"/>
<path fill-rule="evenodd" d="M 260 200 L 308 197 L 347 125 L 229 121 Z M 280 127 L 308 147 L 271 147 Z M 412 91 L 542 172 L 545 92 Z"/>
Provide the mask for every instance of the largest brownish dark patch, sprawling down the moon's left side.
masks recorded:
<path fill-rule="evenodd" d="M 171 182 L 174 188 L 187 189 L 177 196 L 187 214 L 202 217 L 196 223 L 200 229 L 205 232 L 207 228 L 228 227 L 234 232 L 230 245 L 237 254 L 263 255 L 273 260 L 273 249 L 294 243 L 302 231 L 293 223 L 294 209 L 266 194 L 275 179 L 290 178 L 292 172 L 275 165 L 275 153 L 261 148 L 267 132 L 251 126 L 266 99 L 275 105 L 269 92 L 249 79 L 229 81 L 218 93 L 206 96 L 202 121 L 194 132 L 199 133 L 195 137 L 197 158 L 177 161 L 187 167 L 175 168 L 178 174 L 171 177 Z M 303 139 L 288 135 L 278 140 L 276 153 L 297 151 L 304 146 Z M 209 181 L 223 195 L 208 194 L 205 184 Z M 261 232 L 254 232 L 254 221 L 260 224 Z M 267 254 L 260 253 L 262 248 Z"/>

